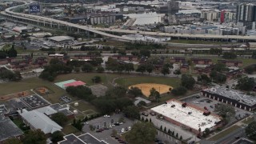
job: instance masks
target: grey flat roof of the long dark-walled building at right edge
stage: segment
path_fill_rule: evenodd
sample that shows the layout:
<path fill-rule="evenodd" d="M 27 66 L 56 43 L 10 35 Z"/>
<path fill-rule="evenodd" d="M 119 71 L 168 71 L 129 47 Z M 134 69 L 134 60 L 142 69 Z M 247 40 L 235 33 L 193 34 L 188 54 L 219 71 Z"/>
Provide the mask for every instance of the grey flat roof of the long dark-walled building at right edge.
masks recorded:
<path fill-rule="evenodd" d="M 218 95 L 221 95 L 222 97 L 226 97 L 226 98 L 231 98 L 231 99 L 237 100 L 238 102 L 244 103 L 248 106 L 256 105 L 256 97 L 246 95 L 238 90 L 230 90 L 230 89 L 223 88 L 220 86 L 215 86 L 210 89 L 206 89 L 206 90 L 202 90 L 202 91 L 206 91 L 211 94 L 218 94 Z"/>

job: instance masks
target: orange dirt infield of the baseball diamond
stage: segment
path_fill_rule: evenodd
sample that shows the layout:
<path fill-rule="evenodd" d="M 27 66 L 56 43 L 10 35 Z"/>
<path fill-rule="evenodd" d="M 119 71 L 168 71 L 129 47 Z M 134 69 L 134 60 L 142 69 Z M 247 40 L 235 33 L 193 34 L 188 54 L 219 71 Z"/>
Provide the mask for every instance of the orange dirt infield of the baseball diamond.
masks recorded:
<path fill-rule="evenodd" d="M 137 85 L 129 86 L 130 87 L 138 87 L 138 89 L 142 90 L 142 94 L 144 94 L 146 97 L 150 96 L 150 90 L 154 88 L 157 90 L 160 94 L 165 94 L 170 89 L 173 89 L 172 86 L 167 86 L 167 85 L 162 85 L 162 84 L 157 84 L 157 83 L 140 83 Z"/>

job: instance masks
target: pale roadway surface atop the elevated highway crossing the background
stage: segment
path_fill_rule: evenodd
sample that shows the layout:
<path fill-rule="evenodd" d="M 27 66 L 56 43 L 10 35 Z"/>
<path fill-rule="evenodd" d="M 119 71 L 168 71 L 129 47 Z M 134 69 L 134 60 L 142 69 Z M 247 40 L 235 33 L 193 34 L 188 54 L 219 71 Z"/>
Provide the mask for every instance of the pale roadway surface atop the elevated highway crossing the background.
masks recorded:
<path fill-rule="evenodd" d="M 25 2 L 25 4 L 21 5 L 21 6 L 26 6 L 28 4 L 28 2 Z M 107 34 L 107 32 L 115 32 L 115 33 L 122 33 L 122 34 L 138 34 L 137 30 L 120 30 L 120 29 L 108 29 L 108 28 L 96 28 L 96 27 L 89 27 L 89 26 L 80 26 L 74 23 L 70 23 L 70 22 L 64 22 L 64 21 L 60 21 L 57 19 L 53 19 L 53 18 L 46 18 L 46 17 L 42 17 L 42 16 L 38 16 L 38 15 L 30 15 L 30 14 L 21 14 L 21 13 L 15 13 L 11 10 L 13 10 L 14 8 L 17 8 L 18 6 L 14 6 L 14 7 L 10 7 L 7 8 L 5 11 L 2 11 L 1 14 L 2 15 L 6 15 L 6 16 L 10 16 L 13 18 L 19 18 L 19 19 L 26 19 L 26 20 L 30 20 L 30 21 L 34 21 L 34 22 L 41 22 L 41 23 L 46 23 L 49 22 L 50 26 L 52 26 L 53 24 L 57 24 L 62 25 L 62 26 L 70 26 L 70 27 L 74 27 L 74 28 L 78 28 L 80 30 L 86 30 L 86 31 L 90 31 L 93 32 L 95 34 L 100 34 L 106 37 L 110 37 L 110 38 L 118 38 L 118 39 L 123 39 L 123 40 L 128 40 L 128 41 L 136 41 L 135 38 L 129 38 L 129 37 L 122 37 L 122 36 L 118 36 L 118 35 L 114 35 L 114 34 Z M 59 28 L 59 27 L 58 27 Z M 104 32 L 103 32 L 104 31 Z M 240 40 L 253 40 L 255 41 L 255 37 L 254 36 L 241 36 L 241 35 L 212 35 L 212 34 L 168 34 L 168 33 L 160 33 L 160 32 L 143 32 L 143 34 L 146 35 L 154 35 L 154 36 L 165 36 L 165 37 L 177 37 L 177 38 L 206 38 L 206 39 L 240 39 Z"/>

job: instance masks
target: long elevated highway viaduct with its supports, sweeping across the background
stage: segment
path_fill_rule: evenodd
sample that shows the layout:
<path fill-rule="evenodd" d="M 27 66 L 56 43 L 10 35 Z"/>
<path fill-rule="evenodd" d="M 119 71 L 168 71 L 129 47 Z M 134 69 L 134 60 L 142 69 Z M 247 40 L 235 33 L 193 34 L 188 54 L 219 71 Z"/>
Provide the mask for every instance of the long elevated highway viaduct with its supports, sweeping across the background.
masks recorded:
<path fill-rule="evenodd" d="M 25 2 L 24 5 L 26 6 L 29 2 Z M 5 11 L 2 11 L 1 14 L 4 15 L 6 18 L 11 18 L 16 21 L 20 22 L 27 22 L 32 23 L 38 26 L 49 26 L 53 29 L 59 30 L 77 30 L 78 32 L 85 32 L 89 34 L 89 32 L 94 34 L 100 34 L 102 36 L 106 36 L 109 38 L 117 38 L 120 40 L 126 41 L 136 41 L 136 38 L 130 37 L 122 37 L 114 34 L 109 33 L 121 33 L 121 34 L 138 34 L 137 30 L 120 30 L 120 29 L 109 29 L 109 28 L 95 28 L 90 26 L 81 26 L 78 24 L 60 21 L 54 18 L 46 18 L 38 15 L 31 15 L 31 14 L 22 14 L 22 13 L 15 13 L 14 10 L 18 6 L 7 8 Z M 148 31 L 140 31 L 139 34 L 145 35 L 153 35 L 153 36 L 162 36 L 162 37 L 171 37 L 171 38 L 194 38 L 194 39 L 221 39 L 221 40 L 240 40 L 245 42 L 246 40 L 249 41 L 256 41 L 255 36 L 242 36 L 242 35 L 212 35 L 212 34 L 169 34 L 169 33 L 159 33 L 159 32 L 148 32 Z M 162 42 L 165 43 L 165 42 Z"/>

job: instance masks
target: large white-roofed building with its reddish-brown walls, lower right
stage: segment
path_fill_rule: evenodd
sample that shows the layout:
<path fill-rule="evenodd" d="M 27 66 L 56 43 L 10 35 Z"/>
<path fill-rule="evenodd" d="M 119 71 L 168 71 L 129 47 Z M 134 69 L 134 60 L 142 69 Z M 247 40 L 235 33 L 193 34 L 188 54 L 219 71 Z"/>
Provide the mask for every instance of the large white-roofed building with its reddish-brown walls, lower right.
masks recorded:
<path fill-rule="evenodd" d="M 167 121 L 195 134 L 200 134 L 206 129 L 215 130 L 222 125 L 222 119 L 217 114 L 210 114 L 210 111 L 174 99 L 151 110 L 156 114 L 162 114 Z"/>

